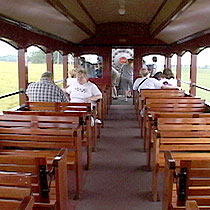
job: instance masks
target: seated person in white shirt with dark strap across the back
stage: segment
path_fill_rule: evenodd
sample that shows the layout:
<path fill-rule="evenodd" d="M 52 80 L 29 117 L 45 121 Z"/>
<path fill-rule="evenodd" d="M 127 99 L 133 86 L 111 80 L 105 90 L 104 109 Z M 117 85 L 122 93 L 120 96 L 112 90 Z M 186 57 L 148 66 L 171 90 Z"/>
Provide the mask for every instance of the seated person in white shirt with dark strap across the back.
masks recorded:
<path fill-rule="evenodd" d="M 140 70 L 142 78 L 137 78 L 133 84 L 133 90 L 142 90 L 142 89 L 161 89 L 161 88 L 176 88 L 174 86 L 163 85 L 160 81 L 155 78 L 150 78 L 150 72 L 146 68 Z"/>

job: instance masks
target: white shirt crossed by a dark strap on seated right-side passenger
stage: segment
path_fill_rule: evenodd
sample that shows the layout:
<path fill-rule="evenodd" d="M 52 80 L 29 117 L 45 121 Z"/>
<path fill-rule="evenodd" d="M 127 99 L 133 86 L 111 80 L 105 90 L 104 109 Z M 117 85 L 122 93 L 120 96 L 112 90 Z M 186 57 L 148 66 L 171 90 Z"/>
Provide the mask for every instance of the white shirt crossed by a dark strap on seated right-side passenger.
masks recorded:
<path fill-rule="evenodd" d="M 163 84 L 155 78 L 138 78 L 133 84 L 133 90 L 141 90 L 141 89 L 161 89 Z M 139 84 L 145 80 L 140 86 Z"/>

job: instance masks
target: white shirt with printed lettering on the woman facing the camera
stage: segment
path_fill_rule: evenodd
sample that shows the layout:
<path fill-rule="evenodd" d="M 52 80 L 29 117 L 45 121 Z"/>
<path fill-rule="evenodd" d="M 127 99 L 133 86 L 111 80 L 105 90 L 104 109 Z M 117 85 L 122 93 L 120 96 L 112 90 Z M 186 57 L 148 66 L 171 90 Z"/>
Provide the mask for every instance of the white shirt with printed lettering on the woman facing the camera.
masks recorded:
<path fill-rule="evenodd" d="M 66 92 L 70 94 L 70 102 L 76 103 L 84 103 L 87 98 L 92 96 L 102 96 L 102 93 L 98 87 L 89 81 L 83 85 L 80 85 L 77 80 L 73 80 L 70 86 L 66 89 Z"/>

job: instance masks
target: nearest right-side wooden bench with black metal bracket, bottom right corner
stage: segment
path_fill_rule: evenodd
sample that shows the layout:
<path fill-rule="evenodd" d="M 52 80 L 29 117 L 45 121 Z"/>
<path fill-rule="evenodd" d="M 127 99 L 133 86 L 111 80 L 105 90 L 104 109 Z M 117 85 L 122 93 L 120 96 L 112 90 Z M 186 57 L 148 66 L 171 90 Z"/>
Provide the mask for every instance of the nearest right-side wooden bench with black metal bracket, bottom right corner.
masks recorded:
<path fill-rule="evenodd" d="M 162 210 L 197 208 L 210 209 L 210 159 L 191 157 L 181 159 L 180 166 L 176 158 L 165 152 L 165 172 Z M 187 200 L 193 200 L 190 204 Z M 185 207 L 186 205 L 186 207 Z"/>

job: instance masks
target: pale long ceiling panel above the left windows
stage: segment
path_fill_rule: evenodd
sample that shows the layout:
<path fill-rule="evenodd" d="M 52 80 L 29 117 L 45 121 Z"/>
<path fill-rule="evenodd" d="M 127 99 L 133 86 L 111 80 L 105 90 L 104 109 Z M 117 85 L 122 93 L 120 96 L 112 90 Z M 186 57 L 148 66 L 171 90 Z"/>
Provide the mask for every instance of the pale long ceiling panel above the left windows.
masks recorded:
<path fill-rule="evenodd" d="M 0 14 L 74 43 L 89 37 L 43 0 L 1 0 Z"/>

